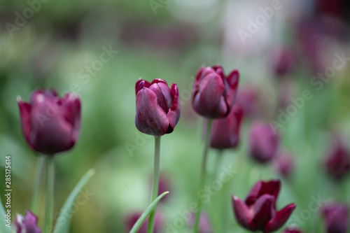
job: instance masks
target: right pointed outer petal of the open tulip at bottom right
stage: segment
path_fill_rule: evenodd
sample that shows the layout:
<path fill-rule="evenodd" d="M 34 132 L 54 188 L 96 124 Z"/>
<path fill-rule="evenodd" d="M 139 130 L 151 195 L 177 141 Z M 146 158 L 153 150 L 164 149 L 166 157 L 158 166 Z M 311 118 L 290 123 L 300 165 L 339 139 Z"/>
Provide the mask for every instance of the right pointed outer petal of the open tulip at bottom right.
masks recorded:
<path fill-rule="evenodd" d="M 288 206 L 278 211 L 274 218 L 269 220 L 269 223 L 267 223 L 264 233 L 270 233 L 279 230 L 279 228 L 281 228 L 284 225 L 284 223 L 286 223 L 294 209 L 295 204 L 289 204 Z"/>

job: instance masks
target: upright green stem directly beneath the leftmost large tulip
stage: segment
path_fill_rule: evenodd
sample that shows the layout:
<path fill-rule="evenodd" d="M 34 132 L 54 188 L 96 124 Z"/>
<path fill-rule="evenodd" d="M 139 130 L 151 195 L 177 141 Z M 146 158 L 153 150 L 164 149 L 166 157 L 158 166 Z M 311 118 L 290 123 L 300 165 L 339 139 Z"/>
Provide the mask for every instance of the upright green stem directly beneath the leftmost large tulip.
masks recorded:
<path fill-rule="evenodd" d="M 45 204 L 45 233 L 51 233 L 53 226 L 53 200 L 55 188 L 55 160 L 53 155 L 46 156 L 46 204 Z"/>

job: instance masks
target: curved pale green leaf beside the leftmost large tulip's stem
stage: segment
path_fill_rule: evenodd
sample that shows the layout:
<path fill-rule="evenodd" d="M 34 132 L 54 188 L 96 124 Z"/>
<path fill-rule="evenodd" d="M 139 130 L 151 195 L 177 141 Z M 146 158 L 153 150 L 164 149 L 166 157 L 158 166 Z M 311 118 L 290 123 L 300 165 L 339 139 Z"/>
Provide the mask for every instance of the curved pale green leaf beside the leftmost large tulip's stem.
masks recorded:
<path fill-rule="evenodd" d="M 78 194 L 83 189 L 84 185 L 87 183 L 87 181 L 94 175 L 94 169 L 90 169 L 87 171 L 87 173 L 83 176 L 83 178 L 80 179 L 76 187 L 71 191 L 71 194 L 66 199 L 66 202 L 64 203 L 61 212 L 59 213 L 59 216 L 56 221 L 55 230 L 54 233 L 68 233 L 69 232 L 69 225 L 71 224 L 71 209 L 73 204 L 76 202 L 76 197 L 78 197 Z"/>

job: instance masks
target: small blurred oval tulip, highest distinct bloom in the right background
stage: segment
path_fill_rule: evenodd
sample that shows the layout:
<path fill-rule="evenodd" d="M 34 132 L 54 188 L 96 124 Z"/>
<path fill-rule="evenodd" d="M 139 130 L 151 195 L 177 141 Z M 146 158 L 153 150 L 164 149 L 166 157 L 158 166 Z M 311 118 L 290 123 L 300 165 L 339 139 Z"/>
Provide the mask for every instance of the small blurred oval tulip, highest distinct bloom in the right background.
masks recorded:
<path fill-rule="evenodd" d="M 294 62 L 293 52 L 288 48 L 281 48 L 272 57 L 272 69 L 276 76 L 286 76 L 292 71 Z"/>

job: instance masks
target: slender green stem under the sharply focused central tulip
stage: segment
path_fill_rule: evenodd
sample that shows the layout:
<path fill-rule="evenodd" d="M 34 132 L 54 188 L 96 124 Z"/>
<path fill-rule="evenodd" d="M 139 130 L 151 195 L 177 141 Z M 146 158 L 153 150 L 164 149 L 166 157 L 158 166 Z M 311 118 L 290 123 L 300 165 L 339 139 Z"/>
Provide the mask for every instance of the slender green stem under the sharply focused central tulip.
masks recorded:
<path fill-rule="evenodd" d="M 155 136 L 155 150 L 154 150 L 154 166 L 153 166 L 153 182 L 152 182 L 152 198 L 151 203 L 158 197 L 158 185 L 159 185 L 159 167 L 160 167 L 160 136 Z M 150 214 L 148 219 L 148 233 L 153 233 L 153 225 L 155 220 L 155 209 Z"/>

